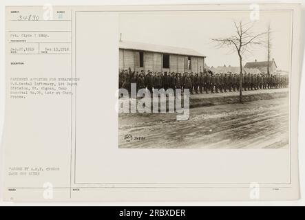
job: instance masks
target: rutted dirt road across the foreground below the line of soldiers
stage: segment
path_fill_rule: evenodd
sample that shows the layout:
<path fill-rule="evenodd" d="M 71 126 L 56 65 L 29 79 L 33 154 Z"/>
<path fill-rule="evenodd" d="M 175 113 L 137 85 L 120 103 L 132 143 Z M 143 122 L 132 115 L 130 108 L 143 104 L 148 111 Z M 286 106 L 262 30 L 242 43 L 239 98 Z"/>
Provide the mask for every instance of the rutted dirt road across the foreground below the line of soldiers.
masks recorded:
<path fill-rule="evenodd" d="M 118 119 L 120 148 L 287 148 L 288 98 L 190 109 L 125 113 Z"/>

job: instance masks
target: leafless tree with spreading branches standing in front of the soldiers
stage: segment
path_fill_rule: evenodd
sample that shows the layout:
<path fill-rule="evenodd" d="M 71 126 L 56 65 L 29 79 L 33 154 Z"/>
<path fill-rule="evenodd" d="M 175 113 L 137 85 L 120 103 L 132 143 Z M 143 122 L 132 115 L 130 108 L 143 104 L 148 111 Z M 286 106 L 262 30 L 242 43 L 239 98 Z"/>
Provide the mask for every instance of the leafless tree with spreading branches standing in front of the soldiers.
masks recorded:
<path fill-rule="evenodd" d="M 233 35 L 227 38 L 220 38 L 220 39 L 212 39 L 215 43 L 217 43 L 218 48 L 221 47 L 231 47 L 231 49 L 238 53 L 238 58 L 240 59 L 240 103 L 242 103 L 242 58 L 246 52 L 251 53 L 251 47 L 253 45 L 263 45 L 264 41 L 261 37 L 266 34 L 266 32 L 262 32 L 259 34 L 255 34 L 252 32 L 252 28 L 254 22 L 249 23 L 236 23 L 235 25 L 235 32 Z"/>

